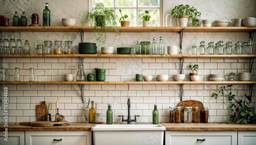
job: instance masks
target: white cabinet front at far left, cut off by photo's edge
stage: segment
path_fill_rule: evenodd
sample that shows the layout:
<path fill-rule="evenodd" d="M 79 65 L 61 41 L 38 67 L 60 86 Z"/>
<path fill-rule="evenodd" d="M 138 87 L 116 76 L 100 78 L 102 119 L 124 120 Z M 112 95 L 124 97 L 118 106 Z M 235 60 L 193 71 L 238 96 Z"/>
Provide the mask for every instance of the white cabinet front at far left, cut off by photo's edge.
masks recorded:
<path fill-rule="evenodd" d="M 8 131 L 8 141 L 4 140 L 5 133 L 0 132 L 0 144 L 25 145 L 25 131 Z"/>

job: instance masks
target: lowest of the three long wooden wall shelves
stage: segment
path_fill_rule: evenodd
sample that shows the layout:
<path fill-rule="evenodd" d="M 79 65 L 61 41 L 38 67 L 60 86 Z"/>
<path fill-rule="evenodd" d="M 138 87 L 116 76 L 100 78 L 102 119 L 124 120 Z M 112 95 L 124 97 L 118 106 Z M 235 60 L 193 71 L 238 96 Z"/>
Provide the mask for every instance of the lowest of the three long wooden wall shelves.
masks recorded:
<path fill-rule="evenodd" d="M 0 84 L 255 84 L 256 81 L 0 81 Z"/>

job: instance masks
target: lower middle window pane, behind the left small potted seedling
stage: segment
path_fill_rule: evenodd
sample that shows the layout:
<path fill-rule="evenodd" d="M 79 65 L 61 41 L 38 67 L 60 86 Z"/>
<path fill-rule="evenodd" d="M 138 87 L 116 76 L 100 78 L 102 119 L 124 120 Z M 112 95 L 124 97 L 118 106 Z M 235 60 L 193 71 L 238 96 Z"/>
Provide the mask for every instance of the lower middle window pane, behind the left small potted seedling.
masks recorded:
<path fill-rule="evenodd" d="M 125 14 L 128 15 L 128 17 L 125 19 L 125 21 L 131 21 L 130 26 L 136 26 L 136 10 L 135 9 L 129 9 L 129 10 L 122 9 L 122 15 L 124 16 Z M 119 21 L 119 18 L 121 17 L 119 9 L 116 9 L 116 15 L 117 15 L 118 21 Z M 119 23 L 119 25 L 120 25 L 120 23 Z"/>

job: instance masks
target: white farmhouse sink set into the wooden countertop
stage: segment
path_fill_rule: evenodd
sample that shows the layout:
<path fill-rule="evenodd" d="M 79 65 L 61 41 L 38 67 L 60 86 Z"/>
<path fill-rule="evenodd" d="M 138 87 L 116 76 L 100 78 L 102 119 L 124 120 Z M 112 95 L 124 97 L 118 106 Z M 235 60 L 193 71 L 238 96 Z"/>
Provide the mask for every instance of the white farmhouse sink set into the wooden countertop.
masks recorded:
<path fill-rule="evenodd" d="M 163 144 L 165 127 L 161 124 L 95 125 L 93 141 L 98 144 Z"/>

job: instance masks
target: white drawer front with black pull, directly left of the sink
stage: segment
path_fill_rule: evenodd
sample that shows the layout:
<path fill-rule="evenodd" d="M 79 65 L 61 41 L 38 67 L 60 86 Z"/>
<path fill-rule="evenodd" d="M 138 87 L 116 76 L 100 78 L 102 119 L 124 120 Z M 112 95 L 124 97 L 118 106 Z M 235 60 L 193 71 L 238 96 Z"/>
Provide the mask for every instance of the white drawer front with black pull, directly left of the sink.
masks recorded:
<path fill-rule="evenodd" d="M 91 131 L 26 131 L 26 144 L 92 144 Z"/>

